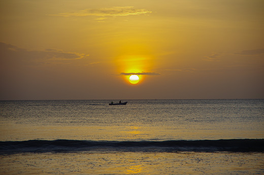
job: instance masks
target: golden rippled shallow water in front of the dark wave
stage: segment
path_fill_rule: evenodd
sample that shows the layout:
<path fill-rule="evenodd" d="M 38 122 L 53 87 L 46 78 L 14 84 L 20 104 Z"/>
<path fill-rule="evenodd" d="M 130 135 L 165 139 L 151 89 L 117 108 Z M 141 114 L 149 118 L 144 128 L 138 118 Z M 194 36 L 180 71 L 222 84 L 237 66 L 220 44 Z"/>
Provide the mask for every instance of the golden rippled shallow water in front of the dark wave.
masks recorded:
<path fill-rule="evenodd" d="M 3 174 L 254 174 L 264 162 L 263 153 L 118 151 L 23 153 L 0 160 Z"/>

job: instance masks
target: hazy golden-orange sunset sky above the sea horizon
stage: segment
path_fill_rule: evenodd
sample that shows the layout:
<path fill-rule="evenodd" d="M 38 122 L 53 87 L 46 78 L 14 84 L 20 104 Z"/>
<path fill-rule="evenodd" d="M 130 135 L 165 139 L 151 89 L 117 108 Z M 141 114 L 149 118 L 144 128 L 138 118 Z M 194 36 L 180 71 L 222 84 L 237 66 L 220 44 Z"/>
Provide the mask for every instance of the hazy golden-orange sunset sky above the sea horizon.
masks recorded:
<path fill-rule="evenodd" d="M 0 100 L 264 98 L 263 8 L 262 0 L 1 1 Z"/>

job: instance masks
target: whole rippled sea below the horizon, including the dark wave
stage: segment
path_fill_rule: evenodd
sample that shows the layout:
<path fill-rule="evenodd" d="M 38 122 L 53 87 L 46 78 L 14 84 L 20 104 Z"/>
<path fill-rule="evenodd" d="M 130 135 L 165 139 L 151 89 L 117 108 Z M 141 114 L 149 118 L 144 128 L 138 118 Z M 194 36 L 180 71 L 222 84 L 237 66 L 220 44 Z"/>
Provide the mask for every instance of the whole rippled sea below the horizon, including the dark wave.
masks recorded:
<path fill-rule="evenodd" d="M 111 101 L 0 101 L 0 174 L 264 174 L 264 99 Z"/>

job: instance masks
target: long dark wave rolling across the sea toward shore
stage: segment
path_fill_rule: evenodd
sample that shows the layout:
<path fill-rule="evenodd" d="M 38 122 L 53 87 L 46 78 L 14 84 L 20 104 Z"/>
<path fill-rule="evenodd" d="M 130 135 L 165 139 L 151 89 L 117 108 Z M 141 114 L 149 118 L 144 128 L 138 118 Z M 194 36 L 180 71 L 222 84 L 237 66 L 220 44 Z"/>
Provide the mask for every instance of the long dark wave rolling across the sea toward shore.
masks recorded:
<path fill-rule="evenodd" d="M 54 141 L 29 140 L 0 142 L 0 154 L 24 152 L 264 152 L 264 139 L 219 139 L 197 141 Z"/>

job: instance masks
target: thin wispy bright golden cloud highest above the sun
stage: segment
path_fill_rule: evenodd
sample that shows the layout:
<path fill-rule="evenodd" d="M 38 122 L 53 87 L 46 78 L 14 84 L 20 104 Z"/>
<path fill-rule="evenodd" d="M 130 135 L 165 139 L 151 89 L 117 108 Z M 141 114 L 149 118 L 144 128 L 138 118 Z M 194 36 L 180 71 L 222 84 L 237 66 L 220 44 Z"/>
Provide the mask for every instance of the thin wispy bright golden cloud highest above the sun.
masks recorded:
<path fill-rule="evenodd" d="M 112 7 L 112 8 L 101 8 L 101 9 L 85 9 L 73 13 L 59 13 L 52 16 L 63 16 L 63 17 L 84 17 L 84 16 L 101 16 L 104 19 L 109 16 L 128 16 L 128 15 L 146 15 L 152 13 L 146 9 L 135 9 L 134 7 Z"/>

